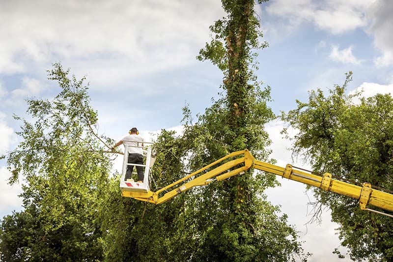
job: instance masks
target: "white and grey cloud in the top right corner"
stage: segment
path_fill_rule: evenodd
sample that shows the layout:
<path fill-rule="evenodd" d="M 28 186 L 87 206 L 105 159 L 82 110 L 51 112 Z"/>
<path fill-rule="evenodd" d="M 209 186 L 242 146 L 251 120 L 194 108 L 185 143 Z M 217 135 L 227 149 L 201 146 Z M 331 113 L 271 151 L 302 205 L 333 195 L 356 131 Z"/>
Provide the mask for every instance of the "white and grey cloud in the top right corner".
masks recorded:
<path fill-rule="evenodd" d="M 373 37 L 375 48 L 381 56 L 374 59 L 377 66 L 393 63 L 393 3 L 391 0 L 276 0 L 266 11 L 286 19 L 286 30 L 297 29 L 301 23 L 310 22 L 318 29 L 331 34 L 343 34 L 363 29 Z M 269 30 L 282 28 L 280 23 L 269 24 Z"/>

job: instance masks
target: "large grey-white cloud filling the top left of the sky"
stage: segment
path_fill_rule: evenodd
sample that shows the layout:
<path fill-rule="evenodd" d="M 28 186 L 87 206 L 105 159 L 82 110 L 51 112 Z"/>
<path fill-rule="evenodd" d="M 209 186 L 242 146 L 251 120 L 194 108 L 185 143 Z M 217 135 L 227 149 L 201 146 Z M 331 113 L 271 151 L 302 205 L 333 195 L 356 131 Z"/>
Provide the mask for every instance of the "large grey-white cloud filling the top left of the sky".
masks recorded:
<path fill-rule="evenodd" d="M 196 63 L 223 15 L 220 1 L 209 0 L 1 1 L 0 73 L 41 73 L 61 60 L 105 88 L 125 88 L 140 75 Z"/>

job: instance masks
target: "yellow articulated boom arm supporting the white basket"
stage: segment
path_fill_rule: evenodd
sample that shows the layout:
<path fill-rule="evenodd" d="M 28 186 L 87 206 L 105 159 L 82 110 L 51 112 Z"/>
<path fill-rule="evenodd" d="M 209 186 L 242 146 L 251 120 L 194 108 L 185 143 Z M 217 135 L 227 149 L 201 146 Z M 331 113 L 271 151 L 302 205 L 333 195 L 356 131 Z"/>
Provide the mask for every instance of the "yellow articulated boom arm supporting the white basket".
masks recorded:
<path fill-rule="evenodd" d="M 238 158 L 229 160 L 229 158 L 234 157 Z M 214 166 L 217 167 L 213 168 Z M 157 192 L 148 191 L 147 193 L 140 193 L 123 191 L 122 196 L 131 197 L 154 204 L 161 204 L 177 196 L 181 192 L 189 190 L 190 188 L 195 186 L 204 186 L 215 180 L 221 181 L 233 175 L 243 174 L 250 168 L 280 175 L 290 180 L 295 180 L 304 184 L 319 187 L 326 191 L 357 199 L 359 200 L 361 209 L 375 211 L 366 207 L 367 204 L 370 204 L 385 210 L 393 211 L 393 195 L 376 190 L 372 188 L 371 184 L 369 183 L 364 183 L 363 186 L 357 186 L 334 179 L 329 173 L 325 173 L 323 176 L 320 176 L 295 169 L 292 167 L 292 165 L 289 164 L 286 165 L 286 167 L 272 165 L 256 160 L 247 149 L 230 153 L 229 155 L 211 163 L 210 165 L 205 166 L 198 171 L 158 190 Z M 208 169 L 211 170 L 207 171 Z M 180 183 L 182 184 L 179 185 Z M 170 188 L 173 189 L 170 190 Z M 164 193 L 164 191 L 167 190 L 170 191 L 160 196 Z M 380 213 L 378 211 L 375 212 Z"/>

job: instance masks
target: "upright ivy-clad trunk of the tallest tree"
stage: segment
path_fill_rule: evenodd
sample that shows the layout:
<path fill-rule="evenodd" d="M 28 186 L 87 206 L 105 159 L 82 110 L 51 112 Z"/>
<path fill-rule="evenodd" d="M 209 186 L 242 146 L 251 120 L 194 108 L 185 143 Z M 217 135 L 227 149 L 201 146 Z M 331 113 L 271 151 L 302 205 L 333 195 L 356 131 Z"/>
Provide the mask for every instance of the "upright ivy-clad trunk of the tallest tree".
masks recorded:
<path fill-rule="evenodd" d="M 254 1 L 239 0 L 235 4 L 227 4 L 230 11 L 229 21 L 227 23 L 227 36 L 225 37 L 228 70 L 224 89 L 226 90 L 226 100 L 229 110 L 228 127 L 231 130 L 228 139 L 229 151 L 238 151 L 243 149 L 256 149 L 255 145 L 248 139 L 251 134 L 248 130 L 252 119 L 253 106 L 249 101 L 249 96 L 253 92 L 253 85 L 249 85 L 249 59 L 250 50 L 246 40 L 249 33 L 253 33 L 253 5 Z M 255 35 L 256 36 L 256 35 Z M 271 112 L 269 112 L 271 114 Z M 271 115 L 270 115 L 271 116 Z M 269 116 L 267 116 L 267 119 Z M 250 121 L 251 120 L 251 121 Z M 260 126 L 262 129 L 263 127 Z M 234 248 L 239 245 L 240 249 L 251 244 L 250 235 L 255 232 L 255 210 L 253 203 L 258 201 L 253 195 L 253 171 L 248 171 L 244 175 L 235 176 L 227 184 L 229 189 L 228 207 L 233 217 L 227 221 L 227 227 L 230 229 L 230 235 L 237 235 L 234 243 L 230 243 Z M 226 227 L 225 226 L 225 227 Z M 230 239 L 230 238 L 229 238 Z M 244 247 L 242 247 L 244 246 Z M 245 252 L 244 255 L 247 255 Z"/>

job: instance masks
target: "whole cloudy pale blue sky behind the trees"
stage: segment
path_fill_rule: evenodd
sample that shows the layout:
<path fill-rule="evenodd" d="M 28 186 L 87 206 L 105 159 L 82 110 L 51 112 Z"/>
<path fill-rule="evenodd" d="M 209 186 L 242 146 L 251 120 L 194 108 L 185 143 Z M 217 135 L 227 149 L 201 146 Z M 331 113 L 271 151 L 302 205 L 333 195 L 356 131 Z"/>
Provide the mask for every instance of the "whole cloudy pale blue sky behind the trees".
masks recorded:
<path fill-rule="evenodd" d="M 256 74 L 271 87 L 276 114 L 294 109 L 296 99 L 307 101 L 312 89 L 341 85 L 350 70 L 348 93 L 393 90 L 391 0 L 271 0 L 256 12 L 269 43 L 257 51 Z M 55 62 L 77 78 L 87 76 L 102 134 L 120 139 L 133 126 L 145 138 L 163 128 L 180 130 L 185 104 L 194 115 L 203 113 L 222 91 L 221 71 L 196 56 L 210 40 L 209 26 L 224 15 L 219 0 L 0 0 L 0 154 L 20 142 L 15 132 L 21 123 L 12 116 L 25 116 L 25 99 L 50 99 L 59 91 L 47 80 Z M 265 126 L 271 157 L 307 168 L 291 159 L 290 142 L 280 134 L 284 125 Z M 21 188 L 9 186 L 8 177 L 0 161 L 0 217 L 22 209 Z M 296 226 L 304 249 L 313 253 L 309 261 L 350 261 L 332 254 L 345 248 L 329 211 L 320 225 L 306 226 L 311 192 L 279 181 L 281 187 L 265 193 Z"/>

